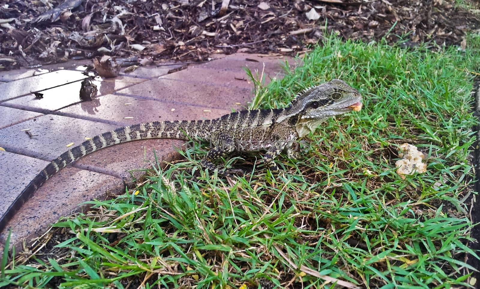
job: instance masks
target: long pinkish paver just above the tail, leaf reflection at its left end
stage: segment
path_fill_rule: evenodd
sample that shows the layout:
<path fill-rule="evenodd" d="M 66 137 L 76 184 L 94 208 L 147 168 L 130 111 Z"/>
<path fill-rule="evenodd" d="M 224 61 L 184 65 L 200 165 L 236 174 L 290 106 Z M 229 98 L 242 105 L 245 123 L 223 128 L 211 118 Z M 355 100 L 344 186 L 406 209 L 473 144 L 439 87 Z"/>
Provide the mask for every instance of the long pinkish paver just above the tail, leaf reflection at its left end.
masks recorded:
<path fill-rule="evenodd" d="M 66 107 L 57 113 L 64 116 L 100 120 L 127 126 L 147 121 L 211 119 L 223 116 L 229 112 L 228 110 L 206 109 L 205 107 L 168 101 L 108 94 L 93 101 Z M 133 118 L 125 119 L 125 117 Z"/>

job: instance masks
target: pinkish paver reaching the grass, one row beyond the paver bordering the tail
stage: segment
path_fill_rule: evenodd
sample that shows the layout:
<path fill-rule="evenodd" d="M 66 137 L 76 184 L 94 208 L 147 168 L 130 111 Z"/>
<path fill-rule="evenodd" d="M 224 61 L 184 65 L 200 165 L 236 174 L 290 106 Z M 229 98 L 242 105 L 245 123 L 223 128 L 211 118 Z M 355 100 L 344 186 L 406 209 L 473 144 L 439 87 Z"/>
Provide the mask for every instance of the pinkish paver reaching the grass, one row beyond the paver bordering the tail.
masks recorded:
<path fill-rule="evenodd" d="M 116 94 L 227 110 L 242 109 L 247 101 L 252 100 L 250 89 L 219 86 L 212 82 L 197 80 L 204 78 L 192 75 L 189 82 L 159 78 L 133 85 Z"/>

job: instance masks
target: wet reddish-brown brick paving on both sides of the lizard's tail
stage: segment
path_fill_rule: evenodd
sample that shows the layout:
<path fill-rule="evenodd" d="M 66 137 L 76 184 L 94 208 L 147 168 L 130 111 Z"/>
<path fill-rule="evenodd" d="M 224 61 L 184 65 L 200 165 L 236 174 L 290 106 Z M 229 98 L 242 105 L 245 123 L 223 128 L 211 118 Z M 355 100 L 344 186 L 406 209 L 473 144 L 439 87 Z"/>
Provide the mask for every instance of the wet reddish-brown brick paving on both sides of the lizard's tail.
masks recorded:
<path fill-rule="evenodd" d="M 120 72 L 117 78 L 96 78 L 98 96 L 89 102 L 79 98 L 88 60 L 0 72 L 0 147 L 5 150 L 0 151 L 0 214 L 49 161 L 69 149 L 68 144 L 76 146 L 85 138 L 140 122 L 209 119 L 243 109 L 253 96 L 244 67 L 269 77 L 284 71 L 282 57 L 215 57 L 205 63 L 142 67 Z M 33 92 L 41 92 L 43 98 Z M 123 193 L 125 185 L 132 185 L 132 175 L 142 175 L 129 171 L 149 168 L 154 149 L 160 161 L 169 161 L 179 157 L 175 148 L 182 143 L 132 141 L 74 162 L 48 179 L 17 211 L 7 226 L 12 228 L 11 243 L 39 236 L 61 216 L 87 209 L 82 202 Z M 6 233 L 0 234 L 1 245 Z"/>

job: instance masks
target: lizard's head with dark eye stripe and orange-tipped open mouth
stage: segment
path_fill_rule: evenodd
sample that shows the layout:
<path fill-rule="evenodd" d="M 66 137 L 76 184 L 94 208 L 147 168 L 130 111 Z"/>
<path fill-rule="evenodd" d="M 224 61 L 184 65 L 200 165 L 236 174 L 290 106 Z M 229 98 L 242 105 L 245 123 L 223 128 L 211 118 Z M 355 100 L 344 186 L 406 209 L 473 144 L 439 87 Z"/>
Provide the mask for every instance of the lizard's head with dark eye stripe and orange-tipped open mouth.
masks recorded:
<path fill-rule="evenodd" d="M 308 88 L 292 100 L 289 116 L 296 116 L 296 128 L 300 137 L 315 130 L 325 119 L 360 111 L 360 93 L 346 82 L 334 79 Z"/>

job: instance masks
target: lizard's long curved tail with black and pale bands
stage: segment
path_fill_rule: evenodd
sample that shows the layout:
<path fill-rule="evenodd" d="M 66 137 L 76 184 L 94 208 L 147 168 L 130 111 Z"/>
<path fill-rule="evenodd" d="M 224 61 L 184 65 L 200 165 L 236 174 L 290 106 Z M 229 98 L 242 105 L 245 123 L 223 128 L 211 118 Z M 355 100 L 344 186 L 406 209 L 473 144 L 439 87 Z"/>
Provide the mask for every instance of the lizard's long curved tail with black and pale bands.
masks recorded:
<path fill-rule="evenodd" d="M 38 173 L 35 178 L 24 188 L 24 190 L 15 198 L 12 204 L 7 208 L 5 214 L 0 219 L 0 231 L 5 229 L 15 212 L 22 207 L 24 202 L 43 185 L 48 178 L 55 173 L 94 151 L 140 139 L 206 139 L 206 131 L 212 131 L 210 120 L 189 120 L 189 121 L 162 121 L 147 122 L 128 127 L 120 127 L 112 131 L 102 133 L 82 144 L 67 150 L 60 157 L 50 162 L 45 169 Z"/>

